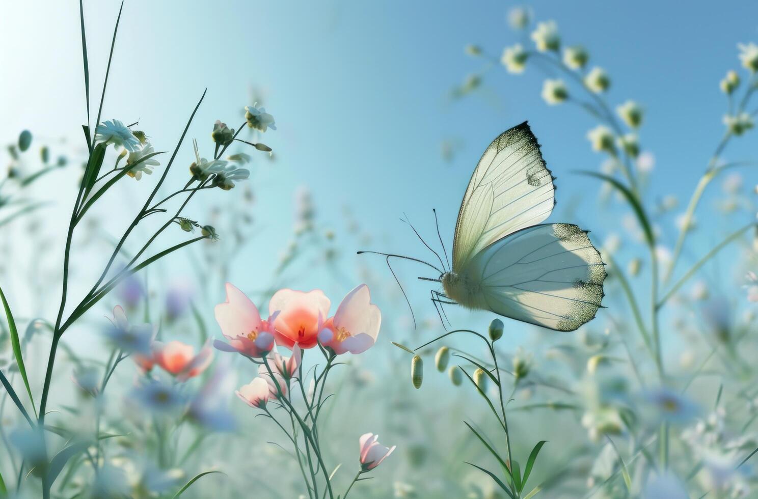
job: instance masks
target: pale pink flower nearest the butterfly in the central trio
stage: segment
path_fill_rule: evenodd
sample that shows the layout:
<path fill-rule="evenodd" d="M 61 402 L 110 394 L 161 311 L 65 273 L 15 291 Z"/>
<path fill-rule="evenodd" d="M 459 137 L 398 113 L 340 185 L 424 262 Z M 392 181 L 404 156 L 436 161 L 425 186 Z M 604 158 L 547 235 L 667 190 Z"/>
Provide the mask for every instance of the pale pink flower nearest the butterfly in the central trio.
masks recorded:
<path fill-rule="evenodd" d="M 337 313 L 324 323 L 318 338 L 336 354 L 361 354 L 374 346 L 381 326 L 379 307 L 371 303 L 368 286 L 359 285 L 343 299 Z"/>

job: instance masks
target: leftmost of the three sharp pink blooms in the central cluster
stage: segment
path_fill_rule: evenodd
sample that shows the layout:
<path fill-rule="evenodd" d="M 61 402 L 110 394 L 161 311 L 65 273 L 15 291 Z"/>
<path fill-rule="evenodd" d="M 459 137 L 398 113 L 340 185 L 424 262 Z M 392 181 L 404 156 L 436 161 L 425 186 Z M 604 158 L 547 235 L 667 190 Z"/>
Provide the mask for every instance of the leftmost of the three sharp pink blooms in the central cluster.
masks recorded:
<path fill-rule="evenodd" d="M 221 351 L 237 351 L 250 357 L 263 357 L 274 348 L 274 335 L 268 322 L 261 320 L 258 308 L 250 298 L 227 282 L 227 301 L 216 305 L 216 322 L 229 343 L 213 345 Z M 271 319 L 275 318 L 275 314 Z"/>

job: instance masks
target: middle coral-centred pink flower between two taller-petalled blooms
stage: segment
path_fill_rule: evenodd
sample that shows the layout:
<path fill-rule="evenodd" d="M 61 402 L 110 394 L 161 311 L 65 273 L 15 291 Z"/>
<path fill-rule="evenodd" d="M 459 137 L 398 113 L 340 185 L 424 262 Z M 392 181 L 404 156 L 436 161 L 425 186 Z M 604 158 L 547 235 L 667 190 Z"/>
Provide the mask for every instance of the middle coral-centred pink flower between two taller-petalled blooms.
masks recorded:
<path fill-rule="evenodd" d="M 310 292 L 280 289 L 268 302 L 271 315 L 279 314 L 271 322 L 277 344 L 287 348 L 313 348 L 318 343 L 318 332 L 324 325 L 331 302 L 320 289 Z"/>

